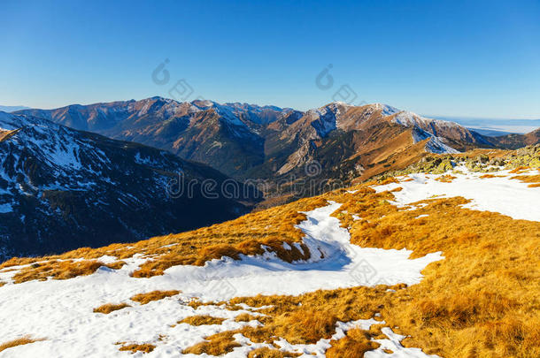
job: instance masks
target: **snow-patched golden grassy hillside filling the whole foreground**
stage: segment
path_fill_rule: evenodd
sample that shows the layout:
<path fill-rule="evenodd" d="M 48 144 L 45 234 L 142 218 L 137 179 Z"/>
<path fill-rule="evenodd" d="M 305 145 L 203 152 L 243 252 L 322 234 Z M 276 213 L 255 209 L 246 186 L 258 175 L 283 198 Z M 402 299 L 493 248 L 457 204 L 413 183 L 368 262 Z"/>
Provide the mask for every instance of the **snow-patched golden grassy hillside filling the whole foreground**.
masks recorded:
<path fill-rule="evenodd" d="M 0 349 L 536 357 L 538 168 L 540 148 L 433 155 L 193 232 L 12 259 Z"/>

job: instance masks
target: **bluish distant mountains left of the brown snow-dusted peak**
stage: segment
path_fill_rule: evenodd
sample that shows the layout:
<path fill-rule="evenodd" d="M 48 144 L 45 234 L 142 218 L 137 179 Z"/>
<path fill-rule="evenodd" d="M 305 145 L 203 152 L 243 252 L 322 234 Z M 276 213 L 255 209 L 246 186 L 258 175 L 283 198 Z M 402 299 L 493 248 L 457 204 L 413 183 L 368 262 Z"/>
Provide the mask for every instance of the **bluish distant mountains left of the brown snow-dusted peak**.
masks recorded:
<path fill-rule="evenodd" d="M 166 149 L 182 158 L 235 175 L 264 161 L 264 138 L 258 131 L 289 111 L 246 103 L 178 103 L 152 97 L 142 101 L 75 104 L 57 110 L 19 113 Z"/>

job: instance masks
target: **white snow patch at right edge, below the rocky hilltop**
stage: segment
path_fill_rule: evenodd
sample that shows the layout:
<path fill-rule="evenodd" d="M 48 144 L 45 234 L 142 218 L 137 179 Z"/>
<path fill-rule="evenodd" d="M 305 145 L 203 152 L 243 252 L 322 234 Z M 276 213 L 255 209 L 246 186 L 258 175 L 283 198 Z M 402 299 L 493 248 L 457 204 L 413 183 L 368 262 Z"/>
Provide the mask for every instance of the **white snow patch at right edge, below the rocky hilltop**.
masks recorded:
<path fill-rule="evenodd" d="M 464 208 L 498 212 L 514 219 L 540 221 L 540 187 L 528 187 L 518 179 L 510 179 L 518 174 L 509 171 L 495 171 L 488 174 L 495 178 L 480 177 L 486 173 L 467 171 L 465 167 L 456 167 L 459 173 L 451 173 L 457 177 L 451 183 L 436 180 L 440 174 L 409 174 L 411 181 L 391 183 L 384 186 L 374 186 L 377 192 L 392 190 L 403 187 L 400 192 L 394 192 L 396 196 L 394 204 L 405 206 L 412 202 L 420 202 L 426 199 L 449 198 L 463 196 L 472 200 L 464 205 Z M 537 175 L 538 171 L 520 175 Z"/>

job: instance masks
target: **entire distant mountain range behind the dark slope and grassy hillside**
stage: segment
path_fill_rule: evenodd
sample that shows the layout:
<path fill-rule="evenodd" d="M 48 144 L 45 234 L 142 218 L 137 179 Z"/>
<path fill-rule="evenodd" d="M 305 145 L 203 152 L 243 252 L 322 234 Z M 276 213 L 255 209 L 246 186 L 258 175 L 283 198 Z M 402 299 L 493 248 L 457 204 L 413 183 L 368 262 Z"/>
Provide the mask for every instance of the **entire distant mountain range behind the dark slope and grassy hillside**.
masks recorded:
<path fill-rule="evenodd" d="M 247 103 L 179 103 L 152 97 L 19 113 L 166 149 L 236 179 L 275 179 L 295 168 L 300 175 L 301 167 L 314 159 L 331 167 L 340 166 L 339 161 L 365 167 L 373 163 L 366 163 L 360 153 L 382 150 L 389 156 L 395 154 L 397 148 L 392 145 L 397 144 L 390 142 L 405 131 L 409 131 L 407 144 L 399 150 L 422 141 L 426 143 L 421 150 L 432 152 L 492 147 L 485 137 L 463 126 L 382 104 L 355 107 L 330 103 L 303 112 Z M 343 140 L 337 147 L 336 138 Z"/>

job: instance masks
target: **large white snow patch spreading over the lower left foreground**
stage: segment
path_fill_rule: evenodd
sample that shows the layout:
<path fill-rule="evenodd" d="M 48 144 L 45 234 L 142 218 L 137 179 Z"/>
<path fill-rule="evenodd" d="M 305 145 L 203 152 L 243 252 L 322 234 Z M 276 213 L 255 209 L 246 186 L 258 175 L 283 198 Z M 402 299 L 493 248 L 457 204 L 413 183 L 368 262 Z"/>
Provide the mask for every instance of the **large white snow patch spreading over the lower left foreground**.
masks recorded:
<path fill-rule="evenodd" d="M 2 342 L 25 335 L 44 340 L 25 346 L 13 347 L 0 353 L 0 357 L 127 357 L 120 352 L 117 342 L 150 342 L 156 349 L 148 357 L 179 357 L 181 351 L 200 342 L 204 337 L 219 332 L 241 328 L 235 316 L 245 310 L 229 311 L 225 307 L 187 305 L 196 297 L 203 301 L 222 301 L 235 296 L 263 294 L 300 294 L 317 289 L 338 287 L 374 286 L 377 284 L 406 283 L 414 285 L 422 278 L 420 271 L 444 257 L 433 253 L 409 259 L 411 251 L 359 248 L 350 243 L 349 232 L 330 214 L 341 204 L 306 212 L 307 219 L 298 227 L 305 232 L 305 244 L 312 258 L 308 262 L 283 263 L 274 254 L 244 256 L 240 261 L 213 260 L 204 267 L 175 266 L 163 276 L 131 278 L 129 272 L 145 259 L 135 256 L 128 259 L 120 270 L 102 268 L 95 274 L 68 280 L 9 283 L 0 288 L 0 337 Z M 321 255 L 323 254 L 323 255 Z M 110 261 L 112 257 L 104 257 Z M 0 272 L 0 280 L 9 281 L 13 271 Z M 138 305 L 129 301 L 136 293 L 153 290 L 181 290 L 181 293 L 161 301 Z M 109 315 L 94 313 L 93 308 L 105 303 L 127 302 L 132 307 Z M 187 316 L 210 315 L 227 318 L 219 325 L 190 326 L 176 324 Z M 369 320 L 367 320 L 369 321 Z M 338 323 L 336 337 L 354 327 L 373 322 Z M 176 325 L 174 325 L 176 324 Z M 173 326 L 174 325 L 174 326 Z M 384 331 L 382 347 L 391 347 L 394 355 L 378 349 L 370 357 L 425 357 L 420 349 L 399 345 L 400 336 L 390 329 Z M 166 338 L 159 340 L 159 335 Z M 256 347 L 243 337 L 236 337 L 243 347 L 227 354 L 228 357 L 245 357 Z M 248 346 L 251 343 L 251 346 Z M 329 339 L 315 345 L 289 345 L 279 341 L 282 349 L 303 353 L 304 356 L 323 357 Z M 137 353 L 133 356 L 140 356 Z M 186 356 L 196 356 L 187 354 Z M 203 355 L 204 356 L 204 355 Z"/>

